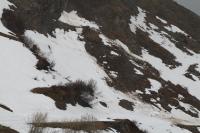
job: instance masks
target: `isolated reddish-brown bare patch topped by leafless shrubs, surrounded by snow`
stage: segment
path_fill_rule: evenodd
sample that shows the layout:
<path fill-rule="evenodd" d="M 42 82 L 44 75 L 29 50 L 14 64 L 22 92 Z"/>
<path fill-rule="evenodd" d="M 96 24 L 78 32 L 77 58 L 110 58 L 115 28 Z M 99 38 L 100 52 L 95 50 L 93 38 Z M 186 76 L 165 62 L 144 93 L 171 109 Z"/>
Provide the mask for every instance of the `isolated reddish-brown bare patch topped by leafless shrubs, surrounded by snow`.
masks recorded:
<path fill-rule="evenodd" d="M 52 98 L 57 108 L 66 110 L 66 104 L 75 106 L 78 103 L 83 107 L 91 107 L 90 102 L 94 99 L 95 90 L 95 81 L 84 82 L 77 80 L 65 85 L 35 88 L 32 92 Z"/>

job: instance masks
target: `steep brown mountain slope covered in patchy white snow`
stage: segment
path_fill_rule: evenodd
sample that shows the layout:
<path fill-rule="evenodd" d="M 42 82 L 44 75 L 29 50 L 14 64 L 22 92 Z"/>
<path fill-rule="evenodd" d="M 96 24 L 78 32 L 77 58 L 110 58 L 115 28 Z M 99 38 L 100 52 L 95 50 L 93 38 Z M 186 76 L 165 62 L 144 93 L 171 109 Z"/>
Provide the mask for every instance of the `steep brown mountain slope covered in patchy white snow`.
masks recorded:
<path fill-rule="evenodd" d="M 141 132 L 199 132 L 199 38 L 184 24 L 134 0 L 10 2 L 1 1 L 10 38 L 0 36 L 0 105 L 11 111 L 0 106 L 0 124 L 27 133 L 42 112 L 49 122 L 89 114 L 135 121 Z M 91 107 L 65 98 L 77 80 L 96 83 Z"/>

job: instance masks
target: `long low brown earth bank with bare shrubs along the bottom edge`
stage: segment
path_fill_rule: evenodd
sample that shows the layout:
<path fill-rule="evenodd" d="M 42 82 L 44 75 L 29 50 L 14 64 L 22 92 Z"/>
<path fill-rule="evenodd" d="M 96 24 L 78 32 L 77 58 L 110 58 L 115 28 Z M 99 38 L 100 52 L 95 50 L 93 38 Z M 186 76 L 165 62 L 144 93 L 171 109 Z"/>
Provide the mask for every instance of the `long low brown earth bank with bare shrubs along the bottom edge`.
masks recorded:
<path fill-rule="evenodd" d="M 79 133 L 84 131 L 86 133 L 98 133 L 103 130 L 116 129 L 120 133 L 145 133 L 140 130 L 134 122 L 129 120 L 116 121 L 97 121 L 91 115 L 85 115 L 78 120 L 62 121 L 62 122 L 47 122 L 47 115 L 37 113 L 34 115 L 31 123 L 31 131 L 29 133 L 44 133 L 47 128 L 60 128 L 63 133 Z M 34 130 L 33 130 L 34 129 Z"/>

